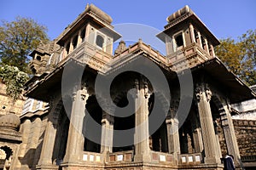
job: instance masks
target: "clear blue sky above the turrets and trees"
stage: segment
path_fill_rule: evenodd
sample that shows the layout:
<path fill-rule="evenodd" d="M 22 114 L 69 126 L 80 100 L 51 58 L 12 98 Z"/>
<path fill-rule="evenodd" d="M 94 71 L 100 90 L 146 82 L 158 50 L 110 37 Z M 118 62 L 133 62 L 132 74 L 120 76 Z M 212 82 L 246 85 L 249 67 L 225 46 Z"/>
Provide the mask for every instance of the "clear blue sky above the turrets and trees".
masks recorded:
<path fill-rule="evenodd" d="M 241 36 L 256 27 L 255 0 L 1 0 L 0 20 L 31 17 L 48 27 L 50 39 L 94 3 L 113 18 L 113 24 L 139 23 L 162 31 L 166 17 L 188 4 L 218 38 Z"/>

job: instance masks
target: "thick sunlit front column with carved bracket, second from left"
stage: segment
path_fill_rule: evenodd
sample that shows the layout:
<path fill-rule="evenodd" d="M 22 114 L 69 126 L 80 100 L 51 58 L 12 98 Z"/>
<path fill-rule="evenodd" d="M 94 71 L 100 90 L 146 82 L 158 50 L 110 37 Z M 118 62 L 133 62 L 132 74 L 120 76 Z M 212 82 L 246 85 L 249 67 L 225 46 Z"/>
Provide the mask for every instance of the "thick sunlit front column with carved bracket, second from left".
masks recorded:
<path fill-rule="evenodd" d="M 89 94 L 85 87 L 74 87 L 73 105 L 67 137 L 67 149 L 64 157 L 65 162 L 76 163 L 82 159 L 84 148 L 84 136 L 82 130 L 85 115 L 85 105 L 88 98 Z"/>

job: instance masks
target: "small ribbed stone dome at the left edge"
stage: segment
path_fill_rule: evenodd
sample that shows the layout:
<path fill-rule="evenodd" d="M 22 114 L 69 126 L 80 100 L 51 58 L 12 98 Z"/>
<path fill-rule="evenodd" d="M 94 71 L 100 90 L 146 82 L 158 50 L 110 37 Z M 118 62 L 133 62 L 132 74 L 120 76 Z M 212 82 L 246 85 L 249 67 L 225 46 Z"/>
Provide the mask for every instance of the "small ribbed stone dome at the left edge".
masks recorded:
<path fill-rule="evenodd" d="M 7 115 L 0 116 L 0 128 L 9 128 L 18 130 L 20 127 L 20 117 L 15 113 L 9 113 Z"/>

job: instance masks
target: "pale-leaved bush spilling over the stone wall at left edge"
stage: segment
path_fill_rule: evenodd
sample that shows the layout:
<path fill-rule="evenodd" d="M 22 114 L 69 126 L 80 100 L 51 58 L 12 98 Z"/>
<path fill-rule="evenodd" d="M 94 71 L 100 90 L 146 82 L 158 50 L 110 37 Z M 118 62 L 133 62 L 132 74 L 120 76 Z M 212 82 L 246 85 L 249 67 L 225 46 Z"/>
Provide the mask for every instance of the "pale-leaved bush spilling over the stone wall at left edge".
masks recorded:
<path fill-rule="evenodd" d="M 15 66 L 5 65 L 0 67 L 0 82 L 6 85 L 6 94 L 14 101 L 19 99 L 23 86 L 28 80 L 28 75 Z"/>

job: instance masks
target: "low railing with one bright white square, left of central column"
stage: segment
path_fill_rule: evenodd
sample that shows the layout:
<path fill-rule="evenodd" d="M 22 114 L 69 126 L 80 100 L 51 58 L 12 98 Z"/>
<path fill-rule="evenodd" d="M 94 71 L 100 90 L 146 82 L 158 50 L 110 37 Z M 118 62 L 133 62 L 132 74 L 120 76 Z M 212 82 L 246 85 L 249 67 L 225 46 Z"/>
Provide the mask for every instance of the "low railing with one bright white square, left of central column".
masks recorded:
<path fill-rule="evenodd" d="M 108 162 L 117 162 L 117 161 L 123 161 L 123 162 L 133 161 L 133 151 L 127 150 L 127 151 L 108 153 Z"/>

